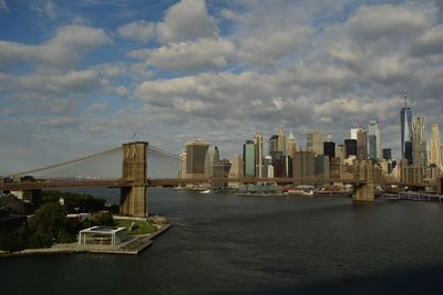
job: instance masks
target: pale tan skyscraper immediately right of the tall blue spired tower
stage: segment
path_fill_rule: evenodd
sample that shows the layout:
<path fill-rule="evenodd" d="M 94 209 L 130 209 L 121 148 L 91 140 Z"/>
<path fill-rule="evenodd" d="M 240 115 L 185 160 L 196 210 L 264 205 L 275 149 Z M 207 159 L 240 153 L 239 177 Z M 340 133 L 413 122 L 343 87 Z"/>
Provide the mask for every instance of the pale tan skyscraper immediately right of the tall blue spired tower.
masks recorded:
<path fill-rule="evenodd" d="M 423 169 L 427 166 L 426 134 L 423 117 L 415 117 L 412 122 L 412 162 Z"/>

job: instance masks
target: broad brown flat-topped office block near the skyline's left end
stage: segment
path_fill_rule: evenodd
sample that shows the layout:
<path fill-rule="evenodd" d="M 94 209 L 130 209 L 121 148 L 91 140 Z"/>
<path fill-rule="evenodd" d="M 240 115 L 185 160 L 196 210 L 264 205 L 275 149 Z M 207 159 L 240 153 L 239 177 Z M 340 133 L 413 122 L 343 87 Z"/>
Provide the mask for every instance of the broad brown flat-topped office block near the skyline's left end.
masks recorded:
<path fill-rule="evenodd" d="M 209 144 L 203 140 L 186 143 L 186 175 L 188 178 L 205 177 L 205 159 Z"/>

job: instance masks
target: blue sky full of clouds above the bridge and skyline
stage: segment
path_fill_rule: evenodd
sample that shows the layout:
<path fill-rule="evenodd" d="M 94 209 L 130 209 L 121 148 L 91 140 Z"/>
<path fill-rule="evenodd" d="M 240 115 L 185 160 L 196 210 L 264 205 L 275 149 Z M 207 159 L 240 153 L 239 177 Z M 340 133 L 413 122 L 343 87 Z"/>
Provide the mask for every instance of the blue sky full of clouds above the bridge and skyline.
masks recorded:
<path fill-rule="evenodd" d="M 443 1 L 0 0 L 0 175 L 145 140 L 442 125 Z"/>

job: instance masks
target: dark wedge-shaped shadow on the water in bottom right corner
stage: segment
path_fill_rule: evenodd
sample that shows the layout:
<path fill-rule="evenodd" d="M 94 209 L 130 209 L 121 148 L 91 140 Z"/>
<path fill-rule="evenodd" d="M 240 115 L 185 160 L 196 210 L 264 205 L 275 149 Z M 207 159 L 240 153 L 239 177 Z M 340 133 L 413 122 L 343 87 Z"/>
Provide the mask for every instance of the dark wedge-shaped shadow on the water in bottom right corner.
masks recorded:
<path fill-rule="evenodd" d="M 443 265 L 409 268 L 367 277 L 348 277 L 248 294 L 442 294 Z"/>

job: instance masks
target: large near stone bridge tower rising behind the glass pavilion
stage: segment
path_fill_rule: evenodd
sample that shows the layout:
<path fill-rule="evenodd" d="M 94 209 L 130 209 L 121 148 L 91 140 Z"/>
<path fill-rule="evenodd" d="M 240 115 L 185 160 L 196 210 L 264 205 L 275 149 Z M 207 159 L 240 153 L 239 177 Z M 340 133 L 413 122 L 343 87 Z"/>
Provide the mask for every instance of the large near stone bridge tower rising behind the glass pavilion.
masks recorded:
<path fill-rule="evenodd" d="M 132 181 L 132 187 L 121 188 L 120 213 L 146 218 L 147 210 L 147 143 L 123 144 L 122 180 Z"/>

